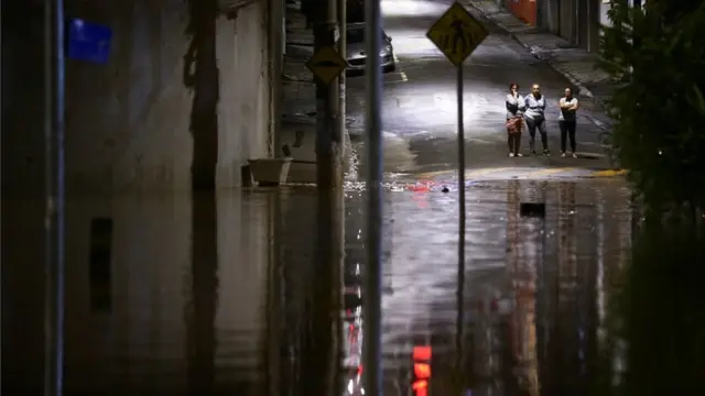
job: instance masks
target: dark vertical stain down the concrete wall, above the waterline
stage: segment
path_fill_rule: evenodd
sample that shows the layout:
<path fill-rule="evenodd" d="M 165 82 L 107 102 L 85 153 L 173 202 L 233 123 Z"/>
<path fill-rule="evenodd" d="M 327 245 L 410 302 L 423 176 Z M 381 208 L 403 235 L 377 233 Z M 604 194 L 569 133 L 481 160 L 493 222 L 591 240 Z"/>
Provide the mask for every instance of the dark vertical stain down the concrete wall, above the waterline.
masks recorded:
<path fill-rule="evenodd" d="M 194 92 L 191 110 L 193 163 L 192 188 L 213 190 L 218 160 L 219 70 L 216 61 L 217 0 L 188 0 L 191 37 L 184 55 L 184 85 Z"/>

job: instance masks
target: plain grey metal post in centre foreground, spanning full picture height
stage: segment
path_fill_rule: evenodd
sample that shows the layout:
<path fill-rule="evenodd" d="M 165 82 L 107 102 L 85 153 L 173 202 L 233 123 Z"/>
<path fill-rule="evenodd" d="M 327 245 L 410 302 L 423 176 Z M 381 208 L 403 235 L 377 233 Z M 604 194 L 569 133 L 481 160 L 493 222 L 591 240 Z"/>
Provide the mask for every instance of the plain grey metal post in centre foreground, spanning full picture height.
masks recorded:
<path fill-rule="evenodd" d="M 382 286 L 382 26 L 380 0 L 365 2 L 366 46 L 366 136 L 367 136 L 367 267 L 364 298 L 364 386 L 370 396 L 382 394 L 381 286 Z"/>

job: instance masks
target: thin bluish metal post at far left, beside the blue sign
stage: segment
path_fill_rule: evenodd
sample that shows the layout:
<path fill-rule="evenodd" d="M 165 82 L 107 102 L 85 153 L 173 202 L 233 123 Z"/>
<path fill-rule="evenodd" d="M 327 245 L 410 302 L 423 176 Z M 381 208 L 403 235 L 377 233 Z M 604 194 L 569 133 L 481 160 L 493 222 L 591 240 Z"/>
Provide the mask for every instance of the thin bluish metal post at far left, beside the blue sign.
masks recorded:
<path fill-rule="evenodd" d="M 44 1 L 44 395 L 64 383 L 64 2 Z"/>

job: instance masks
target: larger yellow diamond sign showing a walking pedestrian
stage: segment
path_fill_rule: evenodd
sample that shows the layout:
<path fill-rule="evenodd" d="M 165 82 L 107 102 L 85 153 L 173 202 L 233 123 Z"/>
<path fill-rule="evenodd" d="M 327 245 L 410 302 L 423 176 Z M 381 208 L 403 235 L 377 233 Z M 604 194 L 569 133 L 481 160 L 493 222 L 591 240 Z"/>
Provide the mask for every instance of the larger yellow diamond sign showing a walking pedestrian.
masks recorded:
<path fill-rule="evenodd" d="M 455 2 L 429 29 L 426 37 L 453 65 L 460 66 L 488 34 L 487 29 L 465 7 Z"/>

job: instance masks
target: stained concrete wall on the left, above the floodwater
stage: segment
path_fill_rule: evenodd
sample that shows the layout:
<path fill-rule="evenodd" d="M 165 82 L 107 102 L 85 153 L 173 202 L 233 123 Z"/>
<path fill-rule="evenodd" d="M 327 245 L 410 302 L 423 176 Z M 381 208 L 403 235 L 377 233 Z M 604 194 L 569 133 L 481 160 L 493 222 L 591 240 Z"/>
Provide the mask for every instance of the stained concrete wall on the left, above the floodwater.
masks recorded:
<path fill-rule="evenodd" d="M 66 65 L 69 187 L 182 189 L 192 165 L 199 185 L 240 184 L 247 160 L 273 144 L 282 26 L 270 3 L 227 18 L 216 0 L 67 0 L 67 16 L 113 31 L 107 65 Z M 2 183 L 26 191 L 44 168 L 42 8 L 12 7 L 29 23 L 3 35 Z"/>

